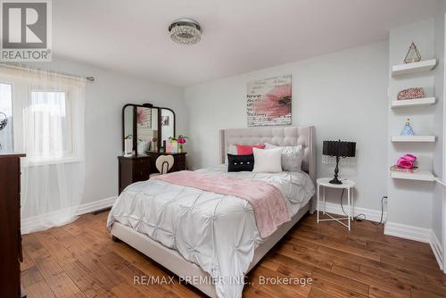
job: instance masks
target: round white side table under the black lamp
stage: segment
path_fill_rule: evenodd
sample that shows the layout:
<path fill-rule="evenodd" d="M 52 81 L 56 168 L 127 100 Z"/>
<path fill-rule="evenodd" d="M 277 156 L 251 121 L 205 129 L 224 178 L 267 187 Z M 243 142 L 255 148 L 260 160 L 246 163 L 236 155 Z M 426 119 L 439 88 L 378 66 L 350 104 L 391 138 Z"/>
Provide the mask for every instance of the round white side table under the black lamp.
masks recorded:
<path fill-rule="evenodd" d="M 343 225 L 345 228 L 348 228 L 349 231 L 351 230 L 351 220 L 353 219 L 353 207 L 354 207 L 354 200 L 353 200 L 353 192 L 351 191 L 352 188 L 356 185 L 356 183 L 349 179 L 341 179 L 343 184 L 331 184 L 329 181 L 333 178 L 318 178 L 316 180 L 316 183 L 318 184 L 318 223 L 319 221 L 337 221 L 341 225 Z M 324 211 L 323 214 L 326 214 L 330 219 L 319 219 L 319 211 L 320 211 L 320 186 L 322 186 L 323 194 L 322 194 L 322 202 L 324 203 Z M 330 188 L 338 188 L 338 189 L 346 189 L 347 190 L 347 217 L 346 218 L 334 218 L 330 214 L 326 213 L 326 187 Z M 341 220 L 348 220 L 348 224 L 346 225 Z"/>

